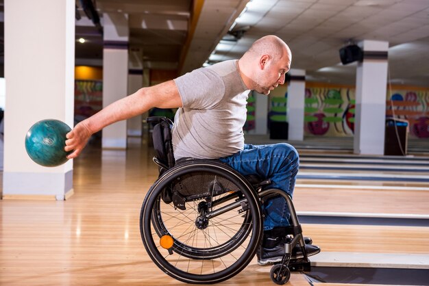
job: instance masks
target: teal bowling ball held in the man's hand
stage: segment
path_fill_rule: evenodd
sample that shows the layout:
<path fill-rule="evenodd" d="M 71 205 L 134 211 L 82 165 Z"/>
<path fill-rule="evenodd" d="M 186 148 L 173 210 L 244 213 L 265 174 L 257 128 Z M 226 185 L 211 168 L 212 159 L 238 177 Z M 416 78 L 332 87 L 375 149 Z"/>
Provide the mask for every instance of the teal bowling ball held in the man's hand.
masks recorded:
<path fill-rule="evenodd" d="M 64 164 L 70 152 L 64 151 L 69 125 L 56 119 L 36 122 L 25 135 L 25 150 L 37 164 L 55 167 Z"/>

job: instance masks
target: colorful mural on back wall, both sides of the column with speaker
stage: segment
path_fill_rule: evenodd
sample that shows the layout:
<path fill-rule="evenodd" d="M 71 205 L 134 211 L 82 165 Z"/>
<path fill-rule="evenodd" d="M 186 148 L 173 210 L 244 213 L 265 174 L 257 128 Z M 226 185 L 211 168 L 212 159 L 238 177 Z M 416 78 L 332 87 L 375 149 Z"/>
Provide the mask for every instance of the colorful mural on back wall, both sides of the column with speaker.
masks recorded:
<path fill-rule="evenodd" d="M 353 136 L 355 103 L 354 88 L 306 88 L 304 135 Z M 429 90 L 388 90 L 392 117 L 408 120 L 410 138 L 429 138 Z"/>

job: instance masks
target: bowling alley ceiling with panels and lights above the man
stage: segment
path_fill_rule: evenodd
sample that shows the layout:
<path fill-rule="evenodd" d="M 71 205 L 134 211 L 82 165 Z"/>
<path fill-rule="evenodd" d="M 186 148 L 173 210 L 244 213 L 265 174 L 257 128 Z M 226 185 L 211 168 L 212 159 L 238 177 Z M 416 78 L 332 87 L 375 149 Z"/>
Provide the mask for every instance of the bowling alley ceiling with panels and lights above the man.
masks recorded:
<path fill-rule="evenodd" d="M 76 64 L 101 65 L 103 36 L 76 0 Z M 97 0 L 101 17 L 127 14 L 129 44 L 148 68 L 180 73 L 241 57 L 260 36 L 275 34 L 307 81 L 354 85 L 356 64 L 339 49 L 362 40 L 389 42 L 393 84 L 429 88 L 429 0 Z"/>

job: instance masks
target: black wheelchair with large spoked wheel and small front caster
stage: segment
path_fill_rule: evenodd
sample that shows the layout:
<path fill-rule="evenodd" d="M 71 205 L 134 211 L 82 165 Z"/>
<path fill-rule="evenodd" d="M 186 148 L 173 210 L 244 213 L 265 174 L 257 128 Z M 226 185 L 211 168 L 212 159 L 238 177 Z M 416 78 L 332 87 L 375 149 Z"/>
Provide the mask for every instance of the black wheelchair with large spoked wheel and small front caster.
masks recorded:
<path fill-rule="evenodd" d="M 291 239 L 271 280 L 287 283 L 292 271 L 310 271 L 302 229 L 291 198 L 268 189 L 269 180 L 243 177 L 215 159 L 175 161 L 172 122 L 149 117 L 160 175 L 145 196 L 140 234 L 149 257 L 166 274 L 185 283 L 212 284 L 232 278 L 254 258 L 263 234 L 261 204 L 283 196 L 291 212 Z M 299 244 L 303 258 L 291 260 Z"/>

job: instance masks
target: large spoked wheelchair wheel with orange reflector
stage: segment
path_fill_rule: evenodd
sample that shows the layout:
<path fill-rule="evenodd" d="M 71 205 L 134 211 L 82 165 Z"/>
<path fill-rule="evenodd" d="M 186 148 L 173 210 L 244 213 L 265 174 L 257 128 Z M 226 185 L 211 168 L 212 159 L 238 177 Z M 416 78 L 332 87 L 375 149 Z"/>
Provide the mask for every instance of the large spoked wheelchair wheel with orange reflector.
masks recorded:
<path fill-rule="evenodd" d="M 205 190 L 213 181 L 218 190 Z M 163 190 L 177 184 L 185 193 L 203 195 L 186 193 L 180 208 L 164 203 Z M 215 161 L 193 161 L 171 168 L 151 187 L 140 212 L 140 232 L 162 271 L 186 283 L 219 283 L 254 257 L 262 213 L 257 194 L 240 174 Z"/>

